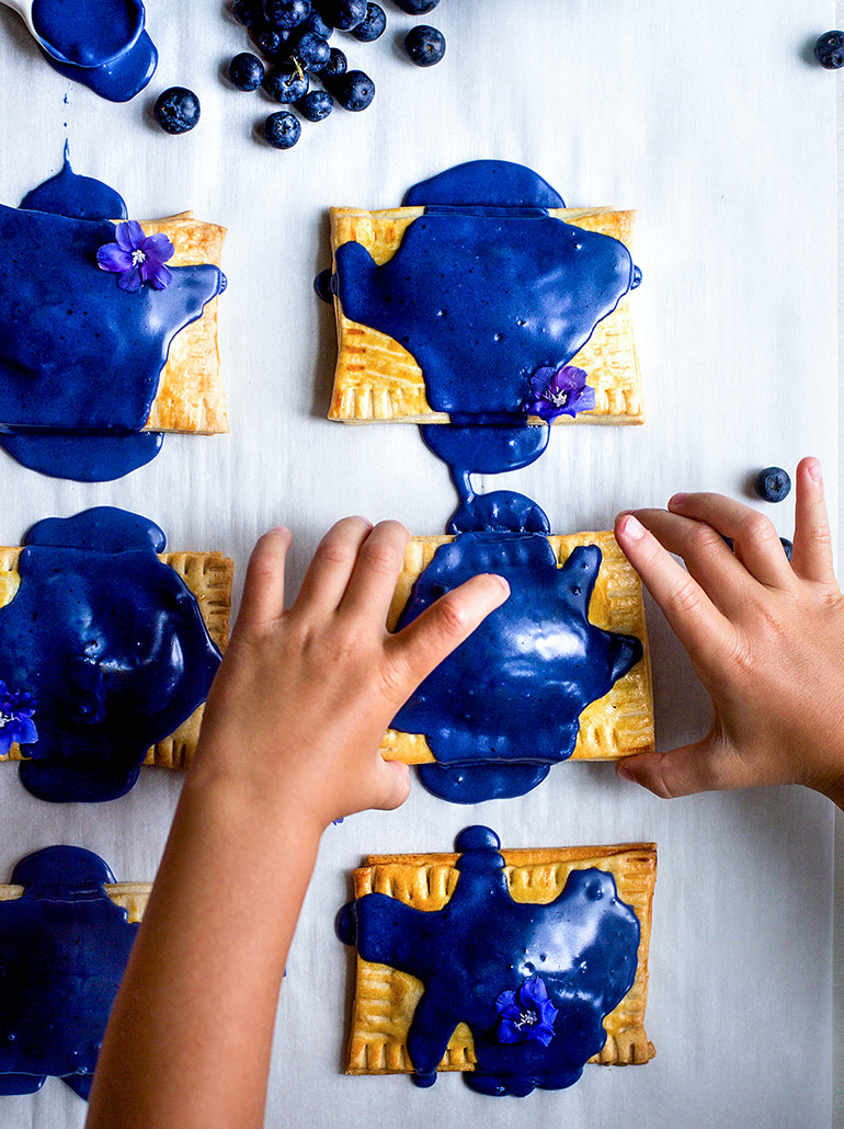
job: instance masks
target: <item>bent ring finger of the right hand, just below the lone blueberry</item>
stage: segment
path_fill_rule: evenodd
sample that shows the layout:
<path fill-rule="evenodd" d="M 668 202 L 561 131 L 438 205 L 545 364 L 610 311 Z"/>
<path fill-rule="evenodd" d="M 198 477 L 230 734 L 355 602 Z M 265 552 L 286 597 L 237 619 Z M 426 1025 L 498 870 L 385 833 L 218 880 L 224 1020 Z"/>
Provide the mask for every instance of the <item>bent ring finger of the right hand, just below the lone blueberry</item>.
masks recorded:
<path fill-rule="evenodd" d="M 794 574 L 776 530 L 757 509 L 735 498 L 715 493 L 675 495 L 668 502 L 672 514 L 705 522 L 730 537 L 736 555 L 759 584 L 793 588 Z"/>

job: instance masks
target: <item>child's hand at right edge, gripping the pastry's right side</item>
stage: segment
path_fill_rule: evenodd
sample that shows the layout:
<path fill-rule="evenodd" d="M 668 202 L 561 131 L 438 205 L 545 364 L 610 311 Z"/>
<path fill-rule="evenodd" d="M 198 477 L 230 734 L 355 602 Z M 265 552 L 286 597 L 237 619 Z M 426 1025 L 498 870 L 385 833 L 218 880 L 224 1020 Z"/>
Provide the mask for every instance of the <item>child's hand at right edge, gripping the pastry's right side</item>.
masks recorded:
<path fill-rule="evenodd" d="M 748 506 L 698 493 L 668 507 L 619 515 L 616 536 L 688 650 L 714 717 L 703 741 L 631 756 L 618 773 L 665 797 L 793 782 L 844 806 L 844 597 L 820 464 L 797 469 L 792 564 Z"/>

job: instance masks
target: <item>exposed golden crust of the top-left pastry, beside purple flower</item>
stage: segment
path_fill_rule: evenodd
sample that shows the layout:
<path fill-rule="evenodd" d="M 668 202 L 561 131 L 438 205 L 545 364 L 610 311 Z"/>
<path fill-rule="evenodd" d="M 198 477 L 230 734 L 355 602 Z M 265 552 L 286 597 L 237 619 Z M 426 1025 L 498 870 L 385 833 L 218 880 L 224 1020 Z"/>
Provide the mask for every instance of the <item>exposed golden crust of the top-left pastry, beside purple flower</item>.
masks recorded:
<path fill-rule="evenodd" d="M 193 212 L 147 220 L 141 227 L 146 235 L 161 231 L 170 239 L 175 254 L 169 266 L 220 265 L 225 227 L 203 224 L 193 218 Z M 144 430 L 199 435 L 228 431 L 217 343 L 217 303 L 213 298 L 202 316 L 173 339 Z"/>

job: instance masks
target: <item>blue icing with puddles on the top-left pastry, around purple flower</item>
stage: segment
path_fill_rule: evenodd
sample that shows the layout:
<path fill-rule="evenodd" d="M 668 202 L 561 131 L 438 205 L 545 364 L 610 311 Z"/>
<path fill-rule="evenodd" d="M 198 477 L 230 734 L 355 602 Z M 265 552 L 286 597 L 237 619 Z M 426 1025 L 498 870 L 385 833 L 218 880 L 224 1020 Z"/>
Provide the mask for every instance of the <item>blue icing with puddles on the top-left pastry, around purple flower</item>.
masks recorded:
<path fill-rule="evenodd" d="M 32 470 L 81 482 L 121 478 L 160 450 L 141 432 L 170 342 L 222 291 L 217 266 L 176 266 L 166 290 L 126 294 L 96 252 L 126 205 L 62 169 L 0 205 L 0 446 Z"/>

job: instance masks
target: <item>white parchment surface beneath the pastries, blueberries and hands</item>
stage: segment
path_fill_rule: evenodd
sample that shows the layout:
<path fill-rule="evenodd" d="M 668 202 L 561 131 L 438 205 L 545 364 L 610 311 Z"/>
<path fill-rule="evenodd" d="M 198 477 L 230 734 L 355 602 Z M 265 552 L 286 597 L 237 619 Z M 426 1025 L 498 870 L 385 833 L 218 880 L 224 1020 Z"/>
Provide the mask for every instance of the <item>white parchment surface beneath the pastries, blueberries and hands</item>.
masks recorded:
<path fill-rule="evenodd" d="M 227 225 L 231 419 L 229 437 L 170 437 L 151 465 L 103 485 L 55 482 L 0 456 L 0 543 L 17 544 L 38 518 L 114 504 L 157 520 L 172 549 L 230 553 L 239 584 L 255 536 L 283 522 L 296 535 L 294 588 L 344 514 L 440 532 L 454 496 L 413 427 L 324 419 L 334 333 L 311 280 L 329 261 L 328 204 L 392 207 L 415 181 L 477 157 L 533 166 L 571 205 L 640 210 L 644 281 L 632 306 L 648 423 L 555 431 L 518 475 L 555 532 L 606 528 L 618 509 L 663 505 L 679 489 L 746 497 L 755 469 L 793 471 L 809 453 L 829 470 L 834 510 L 836 77 L 807 58 L 834 26 L 832 2 L 442 0 L 428 18 L 448 53 L 430 71 L 403 60 L 413 21 L 384 2 L 380 43 L 337 37 L 375 78 L 373 106 L 304 123 L 290 152 L 253 138 L 273 106 L 220 80 L 248 46 L 220 0 L 148 0 L 161 63 L 128 106 L 60 78 L 0 8 L 0 199 L 17 203 L 56 170 L 67 134 L 77 170 L 120 189 L 133 217 L 192 208 Z M 199 128 L 182 138 L 149 120 L 172 84 L 202 100 Z M 768 513 L 790 535 L 791 499 Z M 705 730 L 709 707 L 651 613 L 668 749 Z M 0 874 L 26 851 L 72 842 L 100 852 L 118 879 L 149 879 L 179 786 L 144 770 L 115 803 L 52 806 L 0 765 Z M 524 1101 L 481 1097 L 454 1076 L 423 1092 L 403 1077 L 342 1075 L 351 964 L 333 919 L 348 872 L 367 851 L 450 849 L 472 822 L 511 847 L 658 842 L 649 1066 L 588 1067 L 572 1089 Z M 827 1129 L 832 822 L 798 789 L 669 804 L 609 765 L 573 764 L 521 799 L 460 808 L 415 787 L 398 815 L 329 828 L 290 954 L 267 1124 Z M 9 1129 L 83 1121 L 83 1104 L 52 1079 L 0 1101 Z"/>

